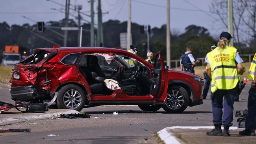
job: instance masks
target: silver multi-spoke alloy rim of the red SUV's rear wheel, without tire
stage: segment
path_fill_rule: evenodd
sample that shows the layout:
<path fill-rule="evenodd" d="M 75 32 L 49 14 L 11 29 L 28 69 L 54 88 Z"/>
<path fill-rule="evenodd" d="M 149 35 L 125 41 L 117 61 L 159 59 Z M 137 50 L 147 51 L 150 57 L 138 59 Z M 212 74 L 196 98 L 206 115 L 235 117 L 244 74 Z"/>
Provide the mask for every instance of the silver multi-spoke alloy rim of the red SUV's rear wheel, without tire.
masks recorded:
<path fill-rule="evenodd" d="M 63 102 L 69 109 L 76 109 L 82 102 L 82 96 L 78 90 L 70 89 L 65 92 Z"/>

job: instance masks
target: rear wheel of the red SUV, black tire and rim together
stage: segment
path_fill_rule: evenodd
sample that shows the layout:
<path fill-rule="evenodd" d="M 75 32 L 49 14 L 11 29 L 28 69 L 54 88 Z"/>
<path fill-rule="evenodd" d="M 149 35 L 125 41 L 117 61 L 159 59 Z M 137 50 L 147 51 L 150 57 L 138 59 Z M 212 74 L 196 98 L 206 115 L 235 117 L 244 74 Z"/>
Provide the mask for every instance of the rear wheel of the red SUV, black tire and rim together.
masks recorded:
<path fill-rule="evenodd" d="M 80 111 L 86 102 L 85 92 L 77 85 L 65 85 L 58 91 L 58 109 L 74 109 Z"/>

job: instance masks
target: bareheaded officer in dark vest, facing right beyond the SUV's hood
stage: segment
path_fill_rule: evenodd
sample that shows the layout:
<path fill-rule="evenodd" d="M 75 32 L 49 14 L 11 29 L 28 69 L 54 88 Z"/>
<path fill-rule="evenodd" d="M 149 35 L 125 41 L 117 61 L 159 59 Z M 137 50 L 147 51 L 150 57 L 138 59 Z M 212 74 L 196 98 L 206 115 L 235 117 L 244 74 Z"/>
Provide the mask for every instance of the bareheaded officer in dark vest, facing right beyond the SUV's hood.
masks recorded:
<path fill-rule="evenodd" d="M 194 65 L 200 61 L 195 61 L 191 54 L 193 52 L 192 46 L 187 46 L 186 50 L 187 52 L 180 57 L 180 70 L 195 74 Z"/>

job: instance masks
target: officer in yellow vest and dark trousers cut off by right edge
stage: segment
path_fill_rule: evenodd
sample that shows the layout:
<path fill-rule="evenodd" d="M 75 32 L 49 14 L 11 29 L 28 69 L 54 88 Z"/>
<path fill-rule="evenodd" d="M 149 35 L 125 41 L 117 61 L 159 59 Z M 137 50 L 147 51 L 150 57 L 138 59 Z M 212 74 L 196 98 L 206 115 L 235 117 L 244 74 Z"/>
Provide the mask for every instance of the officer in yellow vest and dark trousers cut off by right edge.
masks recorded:
<path fill-rule="evenodd" d="M 256 35 L 253 36 L 256 38 Z M 256 119 L 256 53 L 253 57 L 252 63 L 250 65 L 250 70 L 248 74 L 248 79 L 252 80 L 251 88 L 249 90 L 248 96 L 248 114 L 245 120 L 245 130 L 240 131 L 239 135 L 255 135 L 255 119 Z"/>

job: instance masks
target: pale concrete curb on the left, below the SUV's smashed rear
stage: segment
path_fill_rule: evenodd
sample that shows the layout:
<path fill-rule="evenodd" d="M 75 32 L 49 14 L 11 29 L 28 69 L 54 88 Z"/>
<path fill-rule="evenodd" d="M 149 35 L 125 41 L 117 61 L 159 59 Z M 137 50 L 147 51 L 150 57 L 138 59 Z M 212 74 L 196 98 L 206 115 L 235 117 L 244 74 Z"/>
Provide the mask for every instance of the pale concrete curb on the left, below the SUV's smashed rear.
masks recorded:
<path fill-rule="evenodd" d="M 79 112 L 72 109 L 72 110 L 68 110 L 65 112 L 47 113 L 47 114 L 42 113 L 40 115 L 30 115 L 30 116 L 17 116 L 17 117 L 6 118 L 6 119 L 0 120 L 0 126 L 14 124 L 17 122 L 26 122 L 29 120 L 40 120 L 40 119 L 45 119 L 45 118 L 59 117 L 60 114 L 74 114 L 74 113 L 79 113 Z"/>

